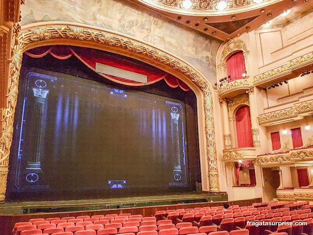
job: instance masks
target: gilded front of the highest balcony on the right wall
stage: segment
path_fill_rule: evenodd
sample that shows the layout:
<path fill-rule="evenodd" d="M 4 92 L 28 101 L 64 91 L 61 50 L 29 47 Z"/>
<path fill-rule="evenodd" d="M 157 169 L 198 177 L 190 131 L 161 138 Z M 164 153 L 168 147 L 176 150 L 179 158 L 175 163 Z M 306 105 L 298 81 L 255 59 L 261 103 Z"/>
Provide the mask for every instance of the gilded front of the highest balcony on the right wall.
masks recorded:
<path fill-rule="evenodd" d="M 313 63 L 313 52 L 310 52 L 288 61 L 285 65 L 282 65 L 279 68 L 254 76 L 253 85 L 255 86 L 260 85 L 274 78 L 279 78 L 283 75 L 290 74 L 291 71 L 312 63 Z"/>

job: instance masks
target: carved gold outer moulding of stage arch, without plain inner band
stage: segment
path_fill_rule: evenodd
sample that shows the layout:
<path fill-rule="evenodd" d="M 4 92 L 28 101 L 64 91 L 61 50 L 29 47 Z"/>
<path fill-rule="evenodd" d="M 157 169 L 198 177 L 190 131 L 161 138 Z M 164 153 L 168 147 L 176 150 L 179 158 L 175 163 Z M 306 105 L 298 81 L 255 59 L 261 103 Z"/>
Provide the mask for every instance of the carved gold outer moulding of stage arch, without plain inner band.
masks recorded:
<path fill-rule="evenodd" d="M 112 33 L 105 30 L 95 30 L 92 28 L 50 24 L 48 26 L 38 26 L 34 29 L 28 29 L 24 32 L 18 32 L 18 44 L 14 46 L 14 57 L 10 65 L 10 85 L 7 94 L 6 108 L 3 110 L 2 136 L 0 138 L 0 167 L 4 169 L 5 177 L 2 176 L 0 184 L 0 198 L 4 198 L 6 189 L 6 175 L 9 164 L 10 147 L 12 144 L 14 113 L 17 103 L 19 76 L 22 65 L 22 53 L 25 46 L 36 43 L 36 47 L 40 47 L 40 42 L 52 40 L 49 45 L 57 43 L 55 39 L 81 40 L 82 42 L 92 41 L 95 43 L 107 44 L 112 47 L 120 47 L 134 53 L 143 54 L 149 58 L 153 58 L 165 65 L 168 65 L 181 74 L 185 74 L 197 85 L 203 92 L 204 97 L 204 114 L 205 114 L 205 135 L 206 135 L 206 153 L 209 164 L 208 177 L 210 183 L 210 191 L 219 191 L 218 171 L 216 163 L 216 147 L 214 138 L 214 122 L 213 122 L 213 100 L 210 91 L 210 84 L 207 79 L 191 65 L 181 61 L 176 56 L 165 51 L 148 45 L 146 43 L 131 39 L 125 35 Z M 46 44 L 45 44 L 46 45 Z M 82 45 L 84 45 L 82 43 Z"/>

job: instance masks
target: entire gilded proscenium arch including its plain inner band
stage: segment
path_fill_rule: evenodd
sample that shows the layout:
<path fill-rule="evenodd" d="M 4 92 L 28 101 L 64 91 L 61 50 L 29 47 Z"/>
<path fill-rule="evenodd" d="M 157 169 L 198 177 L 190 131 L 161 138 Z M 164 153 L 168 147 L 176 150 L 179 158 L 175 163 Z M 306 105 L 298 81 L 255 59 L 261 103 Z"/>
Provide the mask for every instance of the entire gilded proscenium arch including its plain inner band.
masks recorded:
<path fill-rule="evenodd" d="M 204 110 L 204 112 L 198 112 L 201 178 L 202 182 L 209 187 L 204 190 L 219 191 L 213 122 L 213 88 L 200 71 L 179 57 L 151 44 L 103 28 L 91 28 L 84 24 L 37 23 L 27 25 L 22 30 L 16 24 L 15 38 L 16 45 L 13 48 L 8 81 L 9 93 L 6 95 L 6 108 L 3 109 L 0 138 L 0 200 L 5 198 L 22 53 L 31 48 L 48 45 L 90 47 L 125 55 L 169 72 L 185 82 L 196 94 L 198 111 Z M 208 165 L 205 158 L 201 157 L 205 155 Z M 206 171 L 208 177 L 206 177 L 206 173 L 203 174 Z"/>

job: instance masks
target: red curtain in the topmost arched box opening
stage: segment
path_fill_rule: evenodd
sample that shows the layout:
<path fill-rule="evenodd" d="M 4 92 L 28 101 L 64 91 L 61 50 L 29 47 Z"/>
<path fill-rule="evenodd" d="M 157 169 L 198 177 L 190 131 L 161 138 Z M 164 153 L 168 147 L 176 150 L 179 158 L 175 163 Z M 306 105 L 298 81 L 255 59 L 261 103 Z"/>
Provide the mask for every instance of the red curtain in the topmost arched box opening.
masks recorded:
<path fill-rule="evenodd" d="M 245 56 L 242 51 L 239 51 L 230 56 L 226 61 L 227 75 L 231 76 L 228 82 L 235 81 L 237 79 L 246 78 L 243 73 L 246 71 Z"/>

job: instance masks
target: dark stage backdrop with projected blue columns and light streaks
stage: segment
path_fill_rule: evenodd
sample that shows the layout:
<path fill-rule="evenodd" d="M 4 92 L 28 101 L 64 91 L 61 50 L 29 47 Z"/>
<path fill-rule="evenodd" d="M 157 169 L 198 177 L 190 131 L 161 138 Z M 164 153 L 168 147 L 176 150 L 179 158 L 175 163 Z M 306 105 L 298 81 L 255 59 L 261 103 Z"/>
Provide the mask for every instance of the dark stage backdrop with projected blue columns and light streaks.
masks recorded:
<path fill-rule="evenodd" d="M 190 180 L 199 179 L 200 171 L 189 172 L 188 166 L 190 106 L 173 97 L 122 88 L 37 68 L 25 71 L 8 198 L 192 190 Z M 191 149 L 197 154 L 197 148 Z M 199 152 L 191 160 L 197 161 Z"/>

